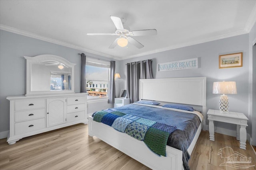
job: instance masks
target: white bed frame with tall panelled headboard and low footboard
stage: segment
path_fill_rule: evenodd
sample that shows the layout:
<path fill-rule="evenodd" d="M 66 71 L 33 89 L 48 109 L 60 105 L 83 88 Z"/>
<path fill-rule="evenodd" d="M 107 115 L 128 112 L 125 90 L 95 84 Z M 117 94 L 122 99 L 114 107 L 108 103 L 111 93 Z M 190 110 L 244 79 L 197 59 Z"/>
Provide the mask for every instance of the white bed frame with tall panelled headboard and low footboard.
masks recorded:
<path fill-rule="evenodd" d="M 202 106 L 206 117 L 206 77 L 195 78 L 159 78 L 140 80 L 140 100 L 155 100 Z M 156 156 L 143 141 L 138 141 L 126 133 L 98 123 L 89 117 L 89 135 L 96 136 L 112 147 L 141 162 L 153 170 L 182 170 L 182 151 L 166 146 L 166 157 Z M 192 153 L 201 130 L 205 130 L 205 119 L 188 148 Z"/>

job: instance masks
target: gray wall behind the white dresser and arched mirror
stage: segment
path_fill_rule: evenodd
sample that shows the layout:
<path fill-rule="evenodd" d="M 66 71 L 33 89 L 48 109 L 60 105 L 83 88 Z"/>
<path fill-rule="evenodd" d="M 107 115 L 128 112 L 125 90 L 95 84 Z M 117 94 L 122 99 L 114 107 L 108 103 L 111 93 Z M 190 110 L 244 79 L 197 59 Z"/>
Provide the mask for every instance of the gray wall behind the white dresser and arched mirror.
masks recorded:
<path fill-rule="evenodd" d="M 81 57 L 78 53 L 113 60 L 8 31 L 0 30 L 0 37 L 0 133 L 9 130 L 9 101 L 6 97 L 26 94 L 26 59 L 23 56 L 51 54 L 76 63 L 75 92 L 80 92 Z"/>

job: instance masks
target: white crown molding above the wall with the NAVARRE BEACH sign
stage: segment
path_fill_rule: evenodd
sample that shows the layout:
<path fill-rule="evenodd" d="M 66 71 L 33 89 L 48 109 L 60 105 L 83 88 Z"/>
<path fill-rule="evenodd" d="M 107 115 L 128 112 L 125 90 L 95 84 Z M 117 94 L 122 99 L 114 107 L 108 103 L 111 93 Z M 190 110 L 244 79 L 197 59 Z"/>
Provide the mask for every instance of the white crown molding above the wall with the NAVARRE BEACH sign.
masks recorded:
<path fill-rule="evenodd" d="M 134 58 L 134 57 L 140 57 L 140 56 L 144 56 L 144 55 L 150 55 L 150 54 L 159 53 L 159 52 L 163 52 L 163 51 L 168 51 L 168 50 L 172 50 L 172 49 L 178 49 L 178 48 L 182 48 L 182 47 L 188 47 L 188 46 L 191 46 L 191 45 L 207 43 L 207 42 L 210 42 L 210 41 L 215 41 L 215 40 L 224 39 L 224 38 L 228 38 L 228 37 L 234 37 L 234 36 L 242 35 L 242 34 L 246 34 L 246 33 L 248 33 L 248 32 L 245 31 L 244 29 L 241 29 L 239 31 L 234 31 L 232 33 L 218 35 L 216 37 L 210 37 L 210 38 L 206 38 L 206 39 L 200 39 L 198 41 L 191 41 L 191 42 L 187 42 L 187 43 L 172 45 L 172 46 L 169 46 L 169 47 L 165 47 L 165 48 L 161 48 L 161 49 L 155 49 L 155 50 L 152 50 L 152 51 L 147 51 L 145 53 L 140 53 L 138 55 L 122 57 L 122 60 L 131 59 L 131 58 Z"/>

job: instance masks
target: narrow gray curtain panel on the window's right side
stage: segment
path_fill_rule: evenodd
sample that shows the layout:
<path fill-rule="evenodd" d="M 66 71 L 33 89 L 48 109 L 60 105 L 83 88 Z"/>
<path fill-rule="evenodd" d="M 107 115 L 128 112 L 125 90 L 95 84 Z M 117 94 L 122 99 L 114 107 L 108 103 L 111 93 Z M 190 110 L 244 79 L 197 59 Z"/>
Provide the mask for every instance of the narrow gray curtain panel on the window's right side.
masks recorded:
<path fill-rule="evenodd" d="M 115 68 L 116 62 L 110 61 L 110 82 L 108 88 L 108 103 L 114 103 L 114 99 L 116 98 L 116 88 L 115 88 Z"/>

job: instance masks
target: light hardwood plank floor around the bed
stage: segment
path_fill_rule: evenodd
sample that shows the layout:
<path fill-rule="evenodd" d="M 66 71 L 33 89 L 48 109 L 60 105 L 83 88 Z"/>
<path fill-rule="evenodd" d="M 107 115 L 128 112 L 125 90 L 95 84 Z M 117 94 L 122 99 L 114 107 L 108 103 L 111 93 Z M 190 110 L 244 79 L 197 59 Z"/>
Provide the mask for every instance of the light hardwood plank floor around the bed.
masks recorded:
<path fill-rule="evenodd" d="M 215 133 L 215 142 L 209 140 L 208 131 L 202 131 L 191 154 L 191 170 L 232 170 L 219 166 L 224 158 L 218 155 L 220 148 L 251 157 L 255 165 L 247 170 L 256 170 L 256 155 L 247 142 L 247 150 L 239 149 L 235 137 Z M 230 150 L 227 152 L 231 155 Z M 233 166 L 231 164 L 231 166 Z M 148 170 L 126 154 L 114 149 L 97 137 L 88 136 L 88 125 L 78 124 L 62 129 L 26 137 L 14 145 L 0 140 L 1 170 Z"/>

